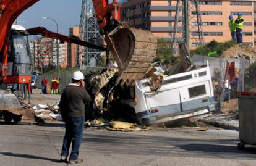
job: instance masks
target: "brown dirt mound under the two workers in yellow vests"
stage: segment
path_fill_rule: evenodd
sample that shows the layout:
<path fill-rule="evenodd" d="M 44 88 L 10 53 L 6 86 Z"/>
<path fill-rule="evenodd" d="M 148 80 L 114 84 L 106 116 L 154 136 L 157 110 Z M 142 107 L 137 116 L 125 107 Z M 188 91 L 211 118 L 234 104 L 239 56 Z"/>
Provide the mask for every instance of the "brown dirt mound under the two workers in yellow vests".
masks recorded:
<path fill-rule="evenodd" d="M 245 57 L 246 59 L 255 59 L 256 58 L 256 51 L 251 46 L 239 46 L 235 45 L 221 54 L 221 57 L 230 57 L 230 58 L 238 58 L 238 57 Z"/>

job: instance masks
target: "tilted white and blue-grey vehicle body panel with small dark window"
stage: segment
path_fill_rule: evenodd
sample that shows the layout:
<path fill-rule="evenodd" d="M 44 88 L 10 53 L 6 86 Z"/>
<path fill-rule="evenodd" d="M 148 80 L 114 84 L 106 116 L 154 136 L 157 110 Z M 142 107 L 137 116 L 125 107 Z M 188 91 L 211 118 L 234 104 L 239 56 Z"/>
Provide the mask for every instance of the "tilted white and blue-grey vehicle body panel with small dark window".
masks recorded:
<path fill-rule="evenodd" d="M 151 91 L 148 78 L 135 82 L 135 113 L 140 123 L 152 125 L 193 117 L 215 110 L 209 64 L 163 78 Z"/>

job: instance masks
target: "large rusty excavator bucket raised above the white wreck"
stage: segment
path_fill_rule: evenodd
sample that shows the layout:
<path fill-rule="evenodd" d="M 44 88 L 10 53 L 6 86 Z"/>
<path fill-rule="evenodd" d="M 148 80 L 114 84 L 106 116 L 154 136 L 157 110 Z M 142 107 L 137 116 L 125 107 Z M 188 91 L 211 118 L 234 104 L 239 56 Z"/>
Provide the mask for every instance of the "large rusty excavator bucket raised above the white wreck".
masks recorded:
<path fill-rule="evenodd" d="M 156 57 L 157 40 L 150 31 L 120 28 L 105 36 L 119 67 L 120 80 L 140 80 Z"/>

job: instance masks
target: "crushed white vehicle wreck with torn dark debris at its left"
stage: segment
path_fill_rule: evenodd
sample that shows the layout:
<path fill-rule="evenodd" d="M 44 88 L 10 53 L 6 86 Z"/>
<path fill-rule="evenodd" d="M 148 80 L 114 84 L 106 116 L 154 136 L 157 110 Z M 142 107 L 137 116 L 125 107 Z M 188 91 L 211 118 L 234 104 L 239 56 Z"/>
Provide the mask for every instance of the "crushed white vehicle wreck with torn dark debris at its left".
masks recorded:
<path fill-rule="evenodd" d="M 85 88 L 93 99 L 87 117 L 96 111 L 152 125 L 214 111 L 208 62 L 196 67 L 184 43 L 179 44 L 179 54 L 180 62 L 170 68 L 168 76 L 160 62 L 151 64 L 142 80 L 119 80 L 119 71 L 111 67 L 87 75 Z"/>

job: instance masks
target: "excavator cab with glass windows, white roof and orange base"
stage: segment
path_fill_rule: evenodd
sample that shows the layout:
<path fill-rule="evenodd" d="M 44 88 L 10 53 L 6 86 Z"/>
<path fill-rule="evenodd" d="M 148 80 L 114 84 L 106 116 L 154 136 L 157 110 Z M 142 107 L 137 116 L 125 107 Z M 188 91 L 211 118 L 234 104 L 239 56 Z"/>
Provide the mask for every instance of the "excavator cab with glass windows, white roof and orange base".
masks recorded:
<path fill-rule="evenodd" d="M 12 25 L 9 33 L 8 55 L 6 78 L 1 89 L 20 91 L 25 94 L 25 89 L 31 80 L 32 57 L 28 33 L 20 25 Z"/>

